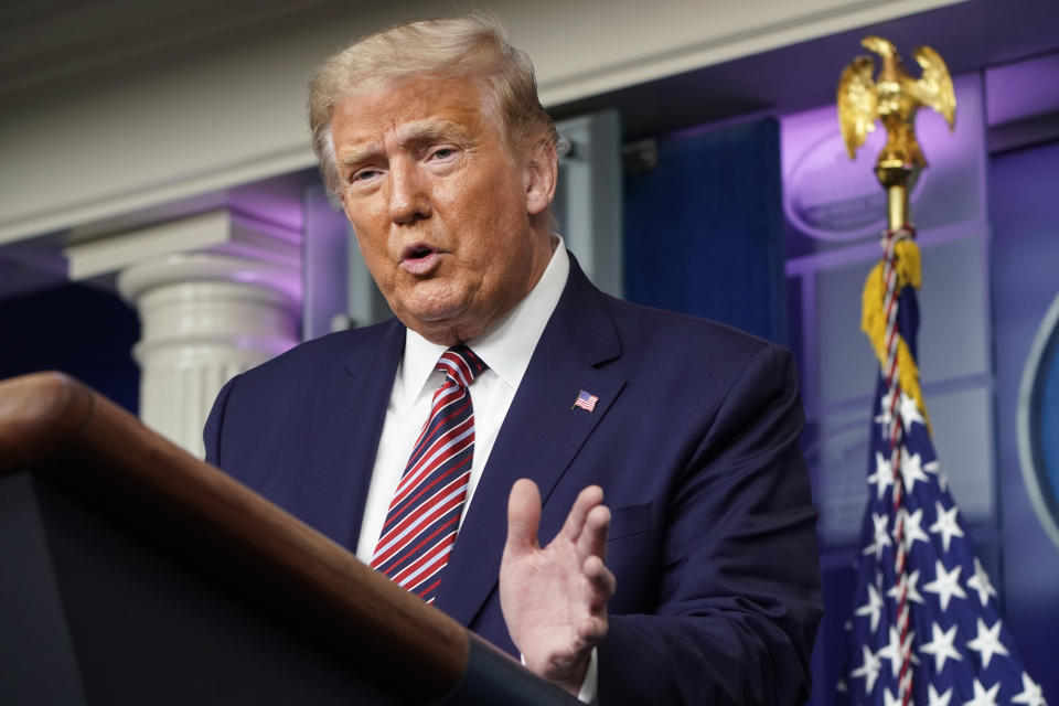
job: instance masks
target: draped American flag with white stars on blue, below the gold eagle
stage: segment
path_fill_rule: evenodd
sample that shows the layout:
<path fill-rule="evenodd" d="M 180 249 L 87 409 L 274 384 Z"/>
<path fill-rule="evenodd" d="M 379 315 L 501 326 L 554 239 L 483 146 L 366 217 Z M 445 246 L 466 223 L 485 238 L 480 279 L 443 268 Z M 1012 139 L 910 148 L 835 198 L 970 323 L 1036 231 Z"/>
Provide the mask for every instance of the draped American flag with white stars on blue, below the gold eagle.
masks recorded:
<path fill-rule="evenodd" d="M 914 256 L 912 281 L 918 286 L 918 252 L 909 254 Z M 896 297 L 900 314 L 892 317 L 894 325 L 907 344 L 912 363 L 908 367 L 912 367 L 918 328 L 914 291 L 898 286 Z M 854 610 L 846 624 L 847 663 L 836 700 L 877 706 L 1044 706 L 1040 686 L 1026 673 L 999 614 L 996 587 L 949 493 L 916 387 L 912 395 L 900 391 L 890 404 L 890 392 L 899 387 L 889 386 L 882 376 L 877 384 L 868 506 Z M 891 453 L 894 437 L 899 439 L 897 454 Z M 898 485 L 901 501 L 895 506 Z M 903 566 L 899 548 L 906 555 Z M 902 589 L 909 611 L 903 630 Z"/>

